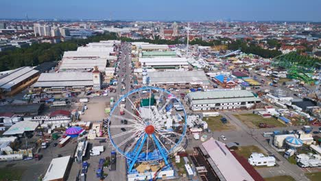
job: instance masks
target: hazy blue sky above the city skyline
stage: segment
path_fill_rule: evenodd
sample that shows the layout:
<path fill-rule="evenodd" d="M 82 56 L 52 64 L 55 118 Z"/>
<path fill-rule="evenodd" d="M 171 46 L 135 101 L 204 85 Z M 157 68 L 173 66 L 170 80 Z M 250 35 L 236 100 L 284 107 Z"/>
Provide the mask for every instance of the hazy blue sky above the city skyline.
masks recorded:
<path fill-rule="evenodd" d="M 0 19 L 321 21 L 321 0 L 0 0 Z"/>

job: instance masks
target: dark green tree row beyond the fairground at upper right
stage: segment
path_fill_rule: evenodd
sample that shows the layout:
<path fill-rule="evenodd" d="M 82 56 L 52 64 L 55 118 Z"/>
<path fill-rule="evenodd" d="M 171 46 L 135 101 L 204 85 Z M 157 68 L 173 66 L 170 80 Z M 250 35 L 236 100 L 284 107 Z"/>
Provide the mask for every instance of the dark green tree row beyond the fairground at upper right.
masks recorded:
<path fill-rule="evenodd" d="M 255 45 L 254 43 L 248 44 L 244 40 L 236 40 L 236 41 L 233 41 L 232 43 L 229 43 L 228 49 L 232 49 L 232 50 L 241 49 L 241 51 L 243 51 L 244 53 L 253 53 L 263 58 L 274 58 L 282 54 L 281 51 L 263 49 L 258 45 Z"/>

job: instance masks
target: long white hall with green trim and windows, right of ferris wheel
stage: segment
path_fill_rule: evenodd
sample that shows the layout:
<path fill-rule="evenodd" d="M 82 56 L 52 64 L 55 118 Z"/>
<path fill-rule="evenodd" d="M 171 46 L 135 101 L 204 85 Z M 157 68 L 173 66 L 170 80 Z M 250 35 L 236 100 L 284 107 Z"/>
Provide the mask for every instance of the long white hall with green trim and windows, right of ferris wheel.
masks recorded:
<path fill-rule="evenodd" d="M 261 100 L 248 90 L 215 90 L 189 93 L 185 101 L 191 110 L 252 108 Z"/>

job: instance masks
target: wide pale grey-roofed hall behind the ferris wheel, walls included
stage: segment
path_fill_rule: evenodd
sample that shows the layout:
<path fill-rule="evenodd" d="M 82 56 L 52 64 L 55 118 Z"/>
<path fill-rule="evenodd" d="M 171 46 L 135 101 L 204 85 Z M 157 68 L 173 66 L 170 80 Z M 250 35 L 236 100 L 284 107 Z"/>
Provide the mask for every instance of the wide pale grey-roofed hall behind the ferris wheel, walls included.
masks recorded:
<path fill-rule="evenodd" d="M 204 71 L 155 71 L 148 72 L 149 84 L 167 88 L 191 88 L 209 85 Z"/>

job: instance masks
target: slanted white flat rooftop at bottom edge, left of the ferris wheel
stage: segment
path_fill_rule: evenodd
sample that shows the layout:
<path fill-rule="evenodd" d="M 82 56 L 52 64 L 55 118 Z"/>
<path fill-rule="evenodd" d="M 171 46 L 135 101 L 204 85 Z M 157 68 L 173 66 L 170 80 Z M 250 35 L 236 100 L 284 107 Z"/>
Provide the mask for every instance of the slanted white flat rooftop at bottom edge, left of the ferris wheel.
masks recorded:
<path fill-rule="evenodd" d="M 53 158 L 50 162 L 49 168 L 43 178 L 43 181 L 61 180 L 67 171 L 70 156 L 63 156 L 60 158 Z"/>

